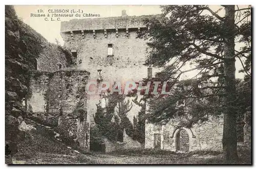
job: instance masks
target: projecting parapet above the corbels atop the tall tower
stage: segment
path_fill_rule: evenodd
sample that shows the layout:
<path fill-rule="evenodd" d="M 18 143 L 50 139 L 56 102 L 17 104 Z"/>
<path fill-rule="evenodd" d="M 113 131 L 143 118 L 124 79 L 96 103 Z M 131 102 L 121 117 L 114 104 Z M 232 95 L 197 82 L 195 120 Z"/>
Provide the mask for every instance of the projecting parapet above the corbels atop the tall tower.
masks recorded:
<path fill-rule="evenodd" d="M 143 19 L 156 15 L 72 19 L 61 22 L 60 32 L 143 28 Z"/>

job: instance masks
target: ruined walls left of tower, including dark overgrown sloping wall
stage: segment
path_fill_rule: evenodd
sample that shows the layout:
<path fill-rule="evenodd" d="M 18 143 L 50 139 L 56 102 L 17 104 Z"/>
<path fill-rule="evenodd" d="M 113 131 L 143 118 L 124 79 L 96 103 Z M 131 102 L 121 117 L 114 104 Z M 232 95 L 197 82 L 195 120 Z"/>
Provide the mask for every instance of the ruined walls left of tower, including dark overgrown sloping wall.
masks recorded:
<path fill-rule="evenodd" d="M 89 149 L 84 86 L 90 73 L 69 69 L 69 52 L 19 19 L 13 6 L 5 6 L 5 40 L 6 155 L 24 151 L 19 146 L 26 139 L 36 140 L 32 129 L 45 130 L 53 139 L 67 136 L 69 143 Z"/>

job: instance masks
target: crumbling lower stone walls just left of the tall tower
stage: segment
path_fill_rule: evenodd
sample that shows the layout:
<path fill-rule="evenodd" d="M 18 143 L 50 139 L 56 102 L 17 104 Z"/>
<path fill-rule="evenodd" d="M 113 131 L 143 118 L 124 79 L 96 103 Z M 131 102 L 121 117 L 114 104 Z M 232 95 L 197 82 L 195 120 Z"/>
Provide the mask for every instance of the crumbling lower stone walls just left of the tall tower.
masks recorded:
<path fill-rule="evenodd" d="M 85 87 L 86 70 L 70 69 L 70 55 L 60 46 L 43 43 L 28 77 L 25 106 L 30 118 L 52 127 L 74 144 L 90 148 L 90 118 Z M 78 110 L 83 109 L 83 111 Z"/>

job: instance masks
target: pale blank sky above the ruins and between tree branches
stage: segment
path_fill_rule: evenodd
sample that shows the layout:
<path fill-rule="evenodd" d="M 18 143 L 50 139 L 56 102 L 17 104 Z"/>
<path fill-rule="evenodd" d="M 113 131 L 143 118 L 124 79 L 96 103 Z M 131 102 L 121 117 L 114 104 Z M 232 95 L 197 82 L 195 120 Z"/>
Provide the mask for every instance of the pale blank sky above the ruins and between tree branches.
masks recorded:
<path fill-rule="evenodd" d="M 248 6 L 240 6 L 240 8 L 247 8 Z M 216 11 L 220 6 L 210 6 L 213 11 Z M 69 21 L 71 19 L 83 19 L 88 17 L 61 17 L 61 21 L 45 21 L 45 17 L 31 17 L 31 14 L 50 14 L 51 10 L 69 10 L 74 9 L 75 11 L 82 10 L 83 13 L 87 14 L 99 14 L 100 17 L 114 17 L 121 16 L 122 10 L 126 10 L 126 14 L 129 16 L 140 16 L 140 15 L 155 15 L 160 14 L 161 9 L 158 5 L 66 5 L 66 6 L 34 6 L 34 5 L 16 5 L 14 9 L 19 18 L 30 25 L 36 32 L 40 33 L 45 37 L 49 42 L 56 43 L 56 39 L 61 45 L 63 45 L 63 40 L 60 36 L 60 22 Z M 39 11 L 38 11 L 39 10 Z M 49 12 L 50 10 L 50 12 Z M 70 13 L 69 13 L 70 14 Z M 221 10 L 218 13 L 220 16 L 224 16 L 225 11 Z M 93 17 L 90 17 L 93 18 Z M 240 45 L 237 45 L 236 48 L 239 49 Z M 243 78 L 244 74 L 239 73 L 238 71 L 242 69 L 242 65 L 239 60 L 236 61 L 236 78 Z M 190 69 L 187 67 L 186 69 Z M 189 72 L 184 74 L 182 78 L 187 78 L 195 75 L 196 71 Z"/>

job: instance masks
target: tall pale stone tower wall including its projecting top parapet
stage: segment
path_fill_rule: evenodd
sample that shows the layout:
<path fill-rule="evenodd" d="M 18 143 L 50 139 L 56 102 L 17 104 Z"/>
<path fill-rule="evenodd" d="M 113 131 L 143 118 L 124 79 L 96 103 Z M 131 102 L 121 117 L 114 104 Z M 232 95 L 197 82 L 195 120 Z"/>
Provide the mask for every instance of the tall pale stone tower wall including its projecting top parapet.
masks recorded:
<path fill-rule="evenodd" d="M 133 22 L 131 17 L 114 17 L 62 22 L 61 36 L 65 40 L 65 47 L 71 52 L 77 52 L 77 57 L 72 58 L 73 67 L 88 70 L 91 73 L 91 81 L 97 80 L 97 70 L 101 70 L 102 79 L 112 84 L 114 81 L 124 84 L 126 81 L 139 81 L 147 77 L 147 67 L 143 65 L 146 58 L 146 41 L 136 38 L 137 31 L 144 31 L 146 28 L 141 24 L 141 18 L 132 20 Z M 90 24 L 86 24 L 87 22 Z M 72 33 L 68 32 L 71 30 Z M 84 31 L 82 33 L 77 30 Z M 108 44 L 113 44 L 113 55 L 108 55 Z M 132 101 L 132 98 L 129 99 Z M 88 111 L 95 114 L 99 97 L 90 95 L 88 100 Z M 140 109 L 140 106 L 134 104 L 127 114 L 132 123 L 133 116 L 136 116 Z"/>

